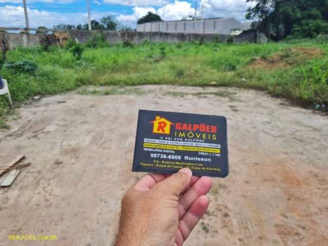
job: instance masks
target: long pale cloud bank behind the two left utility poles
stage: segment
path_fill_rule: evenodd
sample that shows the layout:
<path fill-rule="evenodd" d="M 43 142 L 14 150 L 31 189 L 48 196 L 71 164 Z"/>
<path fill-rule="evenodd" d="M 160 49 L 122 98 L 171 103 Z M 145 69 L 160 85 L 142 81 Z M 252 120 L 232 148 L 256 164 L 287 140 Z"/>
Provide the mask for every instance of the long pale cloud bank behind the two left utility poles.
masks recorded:
<path fill-rule="evenodd" d="M 45 26 L 53 28 L 54 25 L 59 24 L 86 24 L 87 13 L 59 13 L 50 11 L 40 11 L 35 9 L 28 9 L 29 22 L 31 28 Z M 92 19 L 99 20 L 106 15 L 113 15 L 112 12 L 92 12 Z M 25 27 L 24 8 L 21 6 L 5 6 L 0 7 L 0 23 L 3 27 Z"/>

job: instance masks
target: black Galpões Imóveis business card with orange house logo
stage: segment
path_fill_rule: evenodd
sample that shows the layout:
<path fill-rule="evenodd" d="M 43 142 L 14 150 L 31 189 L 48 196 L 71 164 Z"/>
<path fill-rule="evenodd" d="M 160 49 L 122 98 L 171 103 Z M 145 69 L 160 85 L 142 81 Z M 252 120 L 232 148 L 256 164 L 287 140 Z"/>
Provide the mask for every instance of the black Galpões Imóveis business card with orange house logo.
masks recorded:
<path fill-rule="evenodd" d="M 227 119 L 223 116 L 139 110 L 133 172 L 229 175 Z"/>

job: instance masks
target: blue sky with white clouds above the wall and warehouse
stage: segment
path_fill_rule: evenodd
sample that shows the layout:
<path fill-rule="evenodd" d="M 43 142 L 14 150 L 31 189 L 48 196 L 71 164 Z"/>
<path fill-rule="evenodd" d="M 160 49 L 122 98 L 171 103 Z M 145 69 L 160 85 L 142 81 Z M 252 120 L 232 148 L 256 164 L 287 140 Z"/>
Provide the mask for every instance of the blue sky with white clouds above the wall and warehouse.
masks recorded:
<path fill-rule="evenodd" d="M 86 24 L 86 0 L 26 0 L 31 28 L 53 28 L 59 24 Z M 180 20 L 195 14 L 195 1 L 191 0 L 90 0 L 91 18 L 112 15 L 119 24 L 136 27 L 137 20 L 148 11 L 157 13 L 163 20 Z M 198 0 L 197 15 L 203 6 L 204 18 L 234 17 L 245 21 L 251 6 L 246 0 Z M 23 0 L 0 0 L 0 27 L 25 27 Z"/>

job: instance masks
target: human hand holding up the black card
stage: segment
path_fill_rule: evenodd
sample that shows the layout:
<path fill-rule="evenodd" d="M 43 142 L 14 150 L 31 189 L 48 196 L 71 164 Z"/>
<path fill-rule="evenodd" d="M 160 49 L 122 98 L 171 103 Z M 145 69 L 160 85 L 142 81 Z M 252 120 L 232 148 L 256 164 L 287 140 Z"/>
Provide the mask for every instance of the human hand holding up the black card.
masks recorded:
<path fill-rule="evenodd" d="M 211 187 L 189 169 L 145 175 L 122 199 L 115 246 L 181 246 L 207 211 Z"/>

